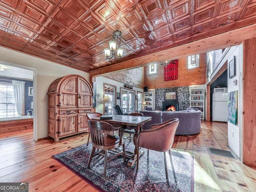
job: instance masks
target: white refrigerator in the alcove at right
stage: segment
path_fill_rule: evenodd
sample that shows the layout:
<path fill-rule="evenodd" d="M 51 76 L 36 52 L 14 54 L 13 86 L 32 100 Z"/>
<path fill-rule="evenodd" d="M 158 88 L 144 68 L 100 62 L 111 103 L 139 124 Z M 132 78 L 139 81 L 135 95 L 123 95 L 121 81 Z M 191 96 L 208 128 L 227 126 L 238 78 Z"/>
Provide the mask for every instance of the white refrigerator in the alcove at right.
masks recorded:
<path fill-rule="evenodd" d="M 213 93 L 212 98 L 212 121 L 228 122 L 228 93 Z"/>

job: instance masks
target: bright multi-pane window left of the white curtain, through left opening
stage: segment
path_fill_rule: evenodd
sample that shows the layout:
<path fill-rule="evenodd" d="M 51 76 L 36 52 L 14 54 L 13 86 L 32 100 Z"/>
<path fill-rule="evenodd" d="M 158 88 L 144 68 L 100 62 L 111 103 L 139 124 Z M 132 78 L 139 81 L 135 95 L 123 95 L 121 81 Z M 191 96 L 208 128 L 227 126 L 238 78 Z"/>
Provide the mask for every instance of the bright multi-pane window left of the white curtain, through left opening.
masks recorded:
<path fill-rule="evenodd" d="M 18 116 L 12 84 L 0 82 L 0 118 Z"/>

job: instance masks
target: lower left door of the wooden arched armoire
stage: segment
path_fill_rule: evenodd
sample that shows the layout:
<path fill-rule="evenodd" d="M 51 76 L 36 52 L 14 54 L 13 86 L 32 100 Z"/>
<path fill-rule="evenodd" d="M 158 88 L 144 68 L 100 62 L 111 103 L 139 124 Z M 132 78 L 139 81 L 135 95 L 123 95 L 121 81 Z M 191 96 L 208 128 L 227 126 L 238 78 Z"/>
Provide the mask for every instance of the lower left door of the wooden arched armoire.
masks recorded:
<path fill-rule="evenodd" d="M 76 115 L 60 116 L 60 136 L 77 132 Z"/>

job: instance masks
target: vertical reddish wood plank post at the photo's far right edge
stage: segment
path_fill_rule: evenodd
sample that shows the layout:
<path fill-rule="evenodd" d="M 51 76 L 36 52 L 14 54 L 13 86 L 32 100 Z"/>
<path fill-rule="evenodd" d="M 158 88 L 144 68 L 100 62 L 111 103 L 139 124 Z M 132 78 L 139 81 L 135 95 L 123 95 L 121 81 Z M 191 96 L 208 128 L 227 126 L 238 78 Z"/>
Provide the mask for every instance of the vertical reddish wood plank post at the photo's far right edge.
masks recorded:
<path fill-rule="evenodd" d="M 256 166 L 256 38 L 243 47 L 243 162 Z"/>

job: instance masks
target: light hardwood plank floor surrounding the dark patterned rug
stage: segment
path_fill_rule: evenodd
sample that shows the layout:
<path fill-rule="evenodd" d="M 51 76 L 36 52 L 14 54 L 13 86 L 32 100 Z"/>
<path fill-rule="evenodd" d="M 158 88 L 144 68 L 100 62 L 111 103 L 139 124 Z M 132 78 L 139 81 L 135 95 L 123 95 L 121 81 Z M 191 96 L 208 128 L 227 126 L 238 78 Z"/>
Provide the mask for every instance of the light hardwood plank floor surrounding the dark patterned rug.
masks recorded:
<path fill-rule="evenodd" d="M 94 192 L 92 186 L 52 158 L 85 144 L 88 134 L 59 142 L 34 142 L 32 132 L 0 136 L 0 182 L 28 182 L 29 192 Z M 194 156 L 195 192 L 255 192 L 256 170 L 239 160 L 209 154 L 208 148 L 230 150 L 227 124 L 202 121 L 201 133 L 176 136 L 172 150 Z"/>

